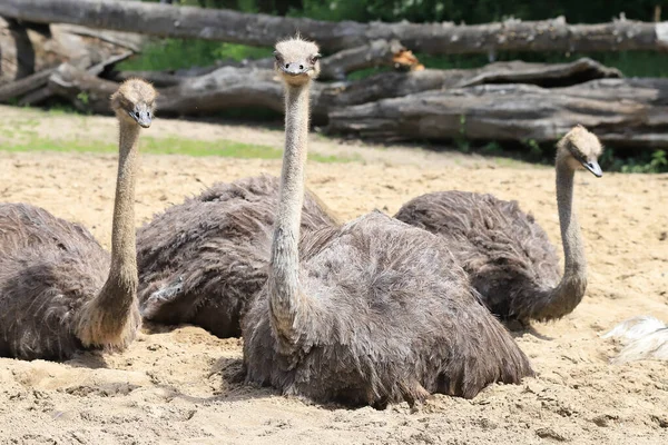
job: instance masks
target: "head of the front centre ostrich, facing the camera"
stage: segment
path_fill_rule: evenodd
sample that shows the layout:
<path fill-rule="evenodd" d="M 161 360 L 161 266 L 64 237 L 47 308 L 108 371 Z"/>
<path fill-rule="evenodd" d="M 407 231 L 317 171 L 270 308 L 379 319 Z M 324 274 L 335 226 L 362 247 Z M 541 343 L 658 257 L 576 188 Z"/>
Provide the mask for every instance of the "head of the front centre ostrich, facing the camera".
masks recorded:
<path fill-rule="evenodd" d="M 314 42 L 295 37 L 276 43 L 274 67 L 287 85 L 305 85 L 320 73 L 320 49 Z"/>

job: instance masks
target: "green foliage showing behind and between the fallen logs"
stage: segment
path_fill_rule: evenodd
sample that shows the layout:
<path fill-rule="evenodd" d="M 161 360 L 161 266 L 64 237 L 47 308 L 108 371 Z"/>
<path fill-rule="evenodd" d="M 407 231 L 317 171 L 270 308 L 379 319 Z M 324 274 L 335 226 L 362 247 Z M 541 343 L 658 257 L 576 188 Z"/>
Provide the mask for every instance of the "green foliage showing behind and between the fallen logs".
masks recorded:
<path fill-rule="evenodd" d="M 157 1 L 157 0 L 156 0 Z M 657 0 L 175 0 L 175 3 L 205 8 L 228 8 L 244 12 L 278 13 L 313 19 L 341 21 L 454 21 L 485 23 L 515 17 L 539 20 L 563 14 L 571 23 L 605 22 L 623 11 L 629 19 L 651 20 Z M 120 66 L 132 70 L 164 70 L 213 65 L 219 59 L 257 59 L 271 56 L 269 48 L 197 40 L 166 39 L 146 48 L 145 53 Z M 416 53 L 428 68 L 478 68 L 489 62 L 485 55 L 429 56 Z M 566 62 L 580 57 L 591 57 L 601 63 L 618 68 L 628 77 L 668 77 L 668 58 L 656 52 L 608 53 L 498 53 L 495 60 L 525 60 L 537 62 Z M 360 79 L 386 68 L 369 69 L 353 73 Z"/>

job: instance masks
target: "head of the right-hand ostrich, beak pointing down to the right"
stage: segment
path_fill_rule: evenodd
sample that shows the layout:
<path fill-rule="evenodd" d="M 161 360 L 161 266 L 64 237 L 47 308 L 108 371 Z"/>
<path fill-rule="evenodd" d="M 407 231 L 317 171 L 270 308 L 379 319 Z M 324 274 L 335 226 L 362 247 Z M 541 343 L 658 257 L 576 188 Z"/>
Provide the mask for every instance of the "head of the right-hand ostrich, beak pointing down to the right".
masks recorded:
<path fill-rule="evenodd" d="M 596 135 L 578 125 L 557 144 L 557 160 L 566 162 L 573 170 L 587 169 L 600 178 L 603 176 L 598 165 L 601 151 L 603 148 Z"/>

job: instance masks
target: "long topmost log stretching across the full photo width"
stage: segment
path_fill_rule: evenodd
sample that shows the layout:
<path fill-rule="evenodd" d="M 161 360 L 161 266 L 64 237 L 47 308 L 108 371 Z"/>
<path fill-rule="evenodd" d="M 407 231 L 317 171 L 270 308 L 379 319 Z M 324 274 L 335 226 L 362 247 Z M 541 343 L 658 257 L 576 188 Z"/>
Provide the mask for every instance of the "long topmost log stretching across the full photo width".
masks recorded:
<path fill-rule="evenodd" d="M 39 23 L 71 23 L 157 37 L 219 40 L 266 47 L 298 31 L 318 42 L 326 52 L 362 47 L 379 39 L 400 39 L 413 51 L 431 55 L 495 51 L 668 51 L 668 22 L 626 19 L 599 24 L 568 24 L 563 18 L 542 21 L 512 19 L 471 26 L 353 21 L 335 23 L 224 9 L 112 0 L 2 0 L 0 16 Z"/>

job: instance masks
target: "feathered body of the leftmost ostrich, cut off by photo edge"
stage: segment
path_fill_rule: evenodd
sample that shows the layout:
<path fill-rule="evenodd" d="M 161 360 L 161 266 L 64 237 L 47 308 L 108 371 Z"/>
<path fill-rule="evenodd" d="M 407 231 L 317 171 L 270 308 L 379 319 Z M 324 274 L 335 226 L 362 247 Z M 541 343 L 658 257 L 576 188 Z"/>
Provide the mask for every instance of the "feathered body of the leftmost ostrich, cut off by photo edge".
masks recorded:
<path fill-rule="evenodd" d="M 82 226 L 24 205 L 0 205 L 0 355 L 70 357 L 69 329 L 109 271 L 109 255 Z"/>

